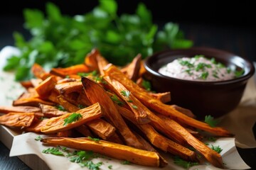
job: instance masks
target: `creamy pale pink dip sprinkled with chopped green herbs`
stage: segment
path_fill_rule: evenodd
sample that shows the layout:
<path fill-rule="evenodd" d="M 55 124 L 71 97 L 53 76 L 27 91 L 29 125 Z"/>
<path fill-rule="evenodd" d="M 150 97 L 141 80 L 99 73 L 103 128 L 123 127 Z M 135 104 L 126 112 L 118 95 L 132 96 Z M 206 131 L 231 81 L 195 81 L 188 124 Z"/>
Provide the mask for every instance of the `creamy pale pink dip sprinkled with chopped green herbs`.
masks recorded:
<path fill-rule="evenodd" d="M 203 55 L 176 59 L 161 67 L 159 73 L 193 81 L 223 81 L 235 78 L 235 73 L 230 68 Z"/>

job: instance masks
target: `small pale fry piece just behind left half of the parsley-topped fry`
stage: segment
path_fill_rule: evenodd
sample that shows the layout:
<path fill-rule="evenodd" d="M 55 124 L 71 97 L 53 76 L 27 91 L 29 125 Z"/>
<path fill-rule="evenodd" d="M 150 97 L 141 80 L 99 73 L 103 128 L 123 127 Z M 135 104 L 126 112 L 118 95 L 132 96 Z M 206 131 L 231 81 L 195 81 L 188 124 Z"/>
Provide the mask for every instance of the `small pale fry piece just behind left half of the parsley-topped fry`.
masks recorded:
<path fill-rule="evenodd" d="M 41 111 L 43 113 L 43 117 L 46 118 L 52 118 L 52 117 L 58 117 L 60 115 L 65 115 L 68 113 L 67 111 L 60 111 L 55 106 L 45 105 L 45 104 L 39 104 L 39 108 L 41 108 Z"/>

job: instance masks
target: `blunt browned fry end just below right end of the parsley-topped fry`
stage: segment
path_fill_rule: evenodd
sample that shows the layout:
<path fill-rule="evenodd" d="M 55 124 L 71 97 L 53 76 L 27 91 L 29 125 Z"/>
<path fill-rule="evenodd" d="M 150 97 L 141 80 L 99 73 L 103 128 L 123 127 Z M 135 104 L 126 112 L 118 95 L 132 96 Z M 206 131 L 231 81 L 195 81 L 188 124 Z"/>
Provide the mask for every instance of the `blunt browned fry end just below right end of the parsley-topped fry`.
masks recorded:
<path fill-rule="evenodd" d="M 101 137 L 103 140 L 107 140 L 108 137 L 112 136 L 115 132 L 114 126 L 107 123 L 103 119 L 95 119 L 90 122 L 87 122 L 86 125 L 92 132 L 97 136 Z"/>

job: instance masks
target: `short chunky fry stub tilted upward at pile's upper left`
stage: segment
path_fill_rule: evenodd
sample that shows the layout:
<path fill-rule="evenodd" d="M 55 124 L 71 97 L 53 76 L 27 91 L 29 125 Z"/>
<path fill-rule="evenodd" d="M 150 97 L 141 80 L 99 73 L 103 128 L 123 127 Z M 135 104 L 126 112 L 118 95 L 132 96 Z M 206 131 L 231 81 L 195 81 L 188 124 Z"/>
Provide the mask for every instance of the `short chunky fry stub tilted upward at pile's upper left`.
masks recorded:
<path fill-rule="evenodd" d="M 36 86 L 35 90 L 40 96 L 40 98 L 47 99 L 50 96 L 50 92 L 54 89 L 57 79 L 53 76 L 48 77 L 44 81 Z"/>

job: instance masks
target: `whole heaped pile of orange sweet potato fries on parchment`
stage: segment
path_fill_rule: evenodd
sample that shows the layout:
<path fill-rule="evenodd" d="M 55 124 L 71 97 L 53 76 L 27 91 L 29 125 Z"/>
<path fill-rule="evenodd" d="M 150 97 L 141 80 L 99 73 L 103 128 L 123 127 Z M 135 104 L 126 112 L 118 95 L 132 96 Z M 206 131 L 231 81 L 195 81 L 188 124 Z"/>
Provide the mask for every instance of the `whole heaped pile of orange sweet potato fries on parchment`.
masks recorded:
<path fill-rule="evenodd" d="M 117 67 L 93 49 L 84 63 L 72 67 L 46 72 L 34 64 L 36 78 L 21 82 L 26 91 L 13 106 L 0 106 L 0 124 L 56 135 L 41 140 L 44 143 L 92 150 L 134 164 L 166 166 L 159 149 L 190 162 L 198 162 L 201 154 L 222 168 L 222 157 L 201 142 L 197 130 L 217 137 L 233 135 L 196 120 L 185 108 L 166 104 L 169 92 L 144 89 L 142 63 L 137 55 L 127 66 Z"/>

